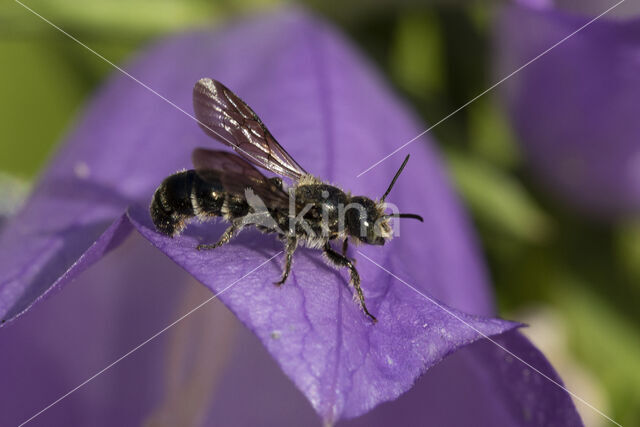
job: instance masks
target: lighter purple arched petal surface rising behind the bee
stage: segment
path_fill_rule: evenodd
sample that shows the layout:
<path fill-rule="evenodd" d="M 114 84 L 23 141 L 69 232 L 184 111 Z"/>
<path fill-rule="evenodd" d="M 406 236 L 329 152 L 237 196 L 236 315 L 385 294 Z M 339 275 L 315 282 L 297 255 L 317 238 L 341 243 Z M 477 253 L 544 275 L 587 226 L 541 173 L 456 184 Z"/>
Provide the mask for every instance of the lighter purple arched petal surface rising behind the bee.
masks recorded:
<path fill-rule="evenodd" d="M 366 67 L 330 30 L 290 13 L 221 32 L 169 39 L 138 58 L 129 72 L 187 112 L 194 82 L 214 76 L 244 96 L 312 173 L 348 183 L 356 192 L 378 195 L 400 159 L 389 160 L 358 180 L 356 173 L 415 136 L 418 128 L 408 123 L 406 113 L 397 117 L 397 101 L 380 88 L 377 76 L 363 71 Z M 366 75 L 362 82 L 352 81 L 354 68 Z M 362 94 L 372 90 L 387 99 L 360 108 Z M 340 104 L 332 102 L 331 91 L 340 95 Z M 346 111 L 342 104 L 353 107 Z M 337 115 L 335 119 L 327 108 Z M 371 127 L 371 122 L 387 122 L 387 114 L 396 119 Z M 376 140 L 376 145 L 361 149 L 360 144 Z M 25 208 L 2 230 L 0 294 L 7 296 L 0 301 L 0 318 L 9 320 L 27 308 L 128 204 L 149 203 L 165 176 L 190 166 L 192 148 L 210 144 L 214 143 L 189 117 L 131 79 L 115 75 L 43 174 Z M 429 147 L 424 150 L 430 152 Z M 461 310 L 491 313 L 483 267 L 437 159 L 430 153 L 412 165 L 402 182 L 421 182 L 421 191 L 438 200 L 434 205 L 410 204 L 408 185 L 398 186 L 391 195 L 390 201 L 404 198 L 403 209 L 420 209 L 437 224 L 429 247 L 417 240 L 403 243 L 409 250 L 430 251 L 421 261 L 424 268 L 410 266 L 412 277 L 433 282 L 431 293 L 445 302 L 455 301 Z M 417 225 L 404 226 L 409 228 Z M 449 259 L 455 259 L 458 268 L 448 268 Z M 43 265 L 46 274 L 33 274 Z M 451 280 L 443 283 L 440 276 Z"/>

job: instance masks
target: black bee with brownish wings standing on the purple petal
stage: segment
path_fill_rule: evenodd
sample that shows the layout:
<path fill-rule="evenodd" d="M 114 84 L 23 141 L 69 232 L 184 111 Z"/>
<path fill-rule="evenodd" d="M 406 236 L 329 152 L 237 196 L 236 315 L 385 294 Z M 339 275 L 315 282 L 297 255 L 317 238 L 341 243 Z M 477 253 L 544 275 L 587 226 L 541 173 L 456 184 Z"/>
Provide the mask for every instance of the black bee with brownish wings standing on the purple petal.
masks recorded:
<path fill-rule="evenodd" d="M 278 286 L 289 277 L 298 246 L 320 249 L 331 266 L 349 270 L 354 297 L 375 323 L 365 303 L 355 261 L 347 257 L 348 241 L 384 245 L 392 238 L 390 218 L 423 221 L 415 214 L 384 212 L 385 198 L 409 156 L 379 200 L 352 196 L 306 172 L 256 113 L 222 83 L 200 79 L 193 89 L 193 106 L 200 127 L 237 155 L 196 148 L 192 153 L 194 169 L 167 177 L 155 191 L 150 212 L 158 232 L 179 235 L 193 217 L 221 217 L 230 223 L 217 242 L 200 244 L 198 250 L 222 246 L 248 226 L 275 233 L 285 247 L 284 269 L 275 282 Z M 279 176 L 267 178 L 253 165 Z M 293 185 L 285 186 L 281 177 L 291 179 Z M 332 247 L 333 241 L 342 241 L 341 253 Z"/>

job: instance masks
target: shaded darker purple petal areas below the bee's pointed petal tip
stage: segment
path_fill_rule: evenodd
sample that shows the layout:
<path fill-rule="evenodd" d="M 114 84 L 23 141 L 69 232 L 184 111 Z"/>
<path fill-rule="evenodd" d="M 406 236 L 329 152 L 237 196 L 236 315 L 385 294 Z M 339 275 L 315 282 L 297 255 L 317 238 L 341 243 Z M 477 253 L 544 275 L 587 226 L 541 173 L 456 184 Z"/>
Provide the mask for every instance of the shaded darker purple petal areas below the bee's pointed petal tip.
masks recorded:
<path fill-rule="evenodd" d="M 134 235 L 47 304 L 0 330 L 0 425 L 27 420 L 211 297 L 163 258 Z M 560 381 L 519 334 L 497 339 Z M 491 344 L 472 344 L 432 368 L 396 401 L 346 424 L 580 425 L 566 394 L 508 359 Z M 215 301 L 28 425 L 97 427 L 151 420 L 155 425 L 197 425 L 198 420 L 202 425 L 321 425 L 260 340 Z"/>

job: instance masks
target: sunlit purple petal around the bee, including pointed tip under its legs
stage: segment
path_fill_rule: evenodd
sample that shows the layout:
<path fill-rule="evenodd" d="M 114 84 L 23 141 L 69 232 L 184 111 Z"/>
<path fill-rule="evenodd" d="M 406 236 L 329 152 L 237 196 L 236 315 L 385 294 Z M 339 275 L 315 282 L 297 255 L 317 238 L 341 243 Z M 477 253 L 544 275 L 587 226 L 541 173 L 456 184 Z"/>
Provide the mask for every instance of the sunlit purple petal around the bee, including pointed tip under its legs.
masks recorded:
<path fill-rule="evenodd" d="M 169 39 L 130 71 L 186 111 L 198 78 L 225 82 L 305 168 L 355 193 L 379 195 L 399 158 L 382 163 L 364 178 L 355 179 L 356 173 L 422 130 L 344 40 L 299 13 Z M 23 213 L 5 228 L 1 242 L 10 267 L 29 267 L 41 256 L 41 248 L 28 243 L 39 242 L 42 229 L 59 234 L 63 243 L 71 242 L 67 251 L 58 240 L 43 241 L 42 247 L 52 245 L 45 252 L 45 261 L 52 265 L 47 277 L 14 274 L 18 297 L 3 305 L 6 312 L 29 306 L 96 241 L 100 227 L 87 224 L 118 218 L 131 201 L 147 206 L 164 176 L 189 167 L 191 148 L 208 144 L 213 142 L 192 120 L 131 80 L 115 78 Z M 449 310 L 483 333 L 513 328 L 513 323 L 462 313 L 492 312 L 483 267 L 432 149 L 414 144 L 412 154 L 390 201 L 422 214 L 426 224 L 402 224 L 403 237 L 363 252 L 455 307 L 459 311 Z M 150 230 L 146 208 L 134 209 L 129 218 L 145 237 L 214 290 L 280 250 L 272 238 L 246 232 L 225 248 L 198 253 L 193 236 L 212 239 L 222 225 L 192 226 L 186 236 L 169 240 Z M 38 228 L 40 224 L 46 227 Z M 94 253 L 113 248 L 128 227 L 116 222 L 110 234 L 97 240 Z M 20 242 L 20 250 L 9 248 Z M 95 261 L 98 256 L 87 258 Z M 358 415 L 397 397 L 426 368 L 479 337 L 366 259 L 359 257 L 358 268 L 370 308 L 380 319 L 375 326 L 351 301 L 345 277 L 326 267 L 314 251 L 296 254 L 292 280 L 282 289 L 271 285 L 280 270 L 273 260 L 222 295 L 329 420 Z M 142 266 L 141 270 L 147 271 Z M 0 271 L 4 291 L 8 281 Z"/>

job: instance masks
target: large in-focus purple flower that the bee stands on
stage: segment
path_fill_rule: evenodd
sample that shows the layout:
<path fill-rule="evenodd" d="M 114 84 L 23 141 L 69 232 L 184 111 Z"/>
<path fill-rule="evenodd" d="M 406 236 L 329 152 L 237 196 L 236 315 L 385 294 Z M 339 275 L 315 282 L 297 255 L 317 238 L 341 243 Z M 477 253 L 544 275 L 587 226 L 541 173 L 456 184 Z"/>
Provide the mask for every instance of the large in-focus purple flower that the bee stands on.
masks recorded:
<path fill-rule="evenodd" d="M 420 130 L 347 42 L 299 12 L 170 38 L 129 72 L 185 111 L 196 80 L 225 82 L 307 170 L 355 194 L 379 196 L 398 159 L 366 179 L 355 172 Z M 276 288 L 282 267 L 269 259 L 281 244 L 271 236 L 247 231 L 198 252 L 196 244 L 215 239 L 224 224 L 192 224 L 175 239 L 153 230 L 147 206 L 155 187 L 190 166 L 191 149 L 211 144 L 193 120 L 128 78 L 118 75 L 102 90 L 0 237 L 3 319 L 14 320 L 52 289 L 62 291 L 0 331 L 0 376 L 7 378 L 0 424 L 28 419 L 211 298 L 143 236 L 220 293 L 252 333 L 223 306 L 203 308 L 205 314 L 169 328 L 36 420 L 306 425 L 318 422 L 315 411 L 331 423 L 397 399 L 466 346 L 402 398 L 352 423 L 581 425 L 562 389 L 480 340 L 479 332 L 494 336 L 561 382 L 514 330 L 518 324 L 488 317 L 483 266 L 430 145 L 413 148 L 389 198 L 422 214 L 425 224 L 403 223 L 391 243 L 360 249 L 424 295 L 352 253 L 379 320 L 372 325 L 352 301 L 346 276 L 318 251 L 296 252 L 290 281 Z"/>

